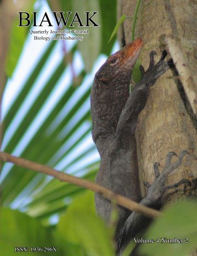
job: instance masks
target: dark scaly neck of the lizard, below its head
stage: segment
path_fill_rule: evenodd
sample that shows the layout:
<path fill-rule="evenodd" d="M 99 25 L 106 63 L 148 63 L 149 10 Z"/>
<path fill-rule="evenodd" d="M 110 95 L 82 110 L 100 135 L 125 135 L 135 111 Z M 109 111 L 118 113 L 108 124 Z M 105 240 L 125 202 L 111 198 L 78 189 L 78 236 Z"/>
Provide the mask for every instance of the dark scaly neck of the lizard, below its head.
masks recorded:
<path fill-rule="evenodd" d="M 116 131 L 119 116 L 129 98 L 131 72 L 124 72 L 112 79 L 108 85 L 94 79 L 91 91 L 92 135 L 97 144 L 99 137 L 109 137 Z"/>

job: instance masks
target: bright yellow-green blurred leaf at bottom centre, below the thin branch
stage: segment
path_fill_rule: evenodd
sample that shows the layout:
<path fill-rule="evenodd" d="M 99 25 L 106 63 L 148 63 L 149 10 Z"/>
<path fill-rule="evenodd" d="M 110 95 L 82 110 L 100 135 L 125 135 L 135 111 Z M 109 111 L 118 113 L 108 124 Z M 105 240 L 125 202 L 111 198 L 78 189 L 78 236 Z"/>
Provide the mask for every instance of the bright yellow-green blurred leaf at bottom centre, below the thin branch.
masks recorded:
<path fill-rule="evenodd" d="M 94 195 L 78 197 L 57 224 L 58 233 L 73 244 L 81 244 L 87 255 L 112 256 L 111 234 L 101 218 L 95 215 Z"/>

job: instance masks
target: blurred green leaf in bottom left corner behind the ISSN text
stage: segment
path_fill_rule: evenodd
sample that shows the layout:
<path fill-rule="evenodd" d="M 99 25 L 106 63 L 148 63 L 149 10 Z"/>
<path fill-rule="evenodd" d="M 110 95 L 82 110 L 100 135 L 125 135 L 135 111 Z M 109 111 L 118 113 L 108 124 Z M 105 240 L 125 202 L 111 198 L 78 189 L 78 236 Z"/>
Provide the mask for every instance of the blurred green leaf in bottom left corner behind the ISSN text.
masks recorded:
<path fill-rule="evenodd" d="M 52 229 L 41 226 L 25 213 L 2 208 L 0 226 L 0 248 L 4 256 L 14 256 L 14 247 L 28 247 L 26 254 L 30 255 L 43 255 L 43 252 L 30 252 L 30 247 L 56 247 Z M 61 254 L 50 252 L 50 255 Z"/>

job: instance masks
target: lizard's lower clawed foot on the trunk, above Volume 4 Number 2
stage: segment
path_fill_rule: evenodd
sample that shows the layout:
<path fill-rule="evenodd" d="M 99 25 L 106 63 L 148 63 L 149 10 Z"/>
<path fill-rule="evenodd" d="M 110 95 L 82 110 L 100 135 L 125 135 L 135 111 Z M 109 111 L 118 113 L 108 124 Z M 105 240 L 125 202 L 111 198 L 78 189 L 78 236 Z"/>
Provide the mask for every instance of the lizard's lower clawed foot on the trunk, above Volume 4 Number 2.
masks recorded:
<path fill-rule="evenodd" d="M 166 157 L 166 163 L 163 167 L 163 171 L 161 174 L 159 174 L 159 163 L 156 162 L 153 165 L 156 177 L 155 182 L 152 186 L 150 185 L 150 183 L 144 182 L 145 186 L 148 187 L 148 194 L 146 196 L 146 199 L 148 199 L 148 201 L 151 201 L 153 204 L 157 205 L 162 204 L 163 194 L 169 189 L 177 188 L 182 184 L 187 184 L 191 186 L 191 182 L 186 178 L 183 178 L 182 180 L 173 185 L 165 186 L 168 175 L 181 165 L 183 158 L 186 154 L 189 154 L 189 152 L 186 150 L 180 152 L 177 161 L 171 164 L 172 157 L 177 156 L 177 154 L 175 152 L 169 152 Z"/>

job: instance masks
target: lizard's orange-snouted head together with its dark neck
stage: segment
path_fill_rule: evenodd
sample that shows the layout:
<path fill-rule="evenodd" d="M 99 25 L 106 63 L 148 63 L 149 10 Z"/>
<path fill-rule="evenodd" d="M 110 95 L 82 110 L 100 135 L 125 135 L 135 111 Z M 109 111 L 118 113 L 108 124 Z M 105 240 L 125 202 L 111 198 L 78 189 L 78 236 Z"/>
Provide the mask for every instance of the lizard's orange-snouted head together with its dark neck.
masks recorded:
<path fill-rule="evenodd" d="M 94 141 L 116 131 L 119 116 L 129 98 L 131 72 L 141 48 L 142 39 L 127 44 L 111 55 L 95 74 L 90 97 Z M 99 143 L 98 147 L 102 145 Z"/>

